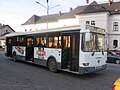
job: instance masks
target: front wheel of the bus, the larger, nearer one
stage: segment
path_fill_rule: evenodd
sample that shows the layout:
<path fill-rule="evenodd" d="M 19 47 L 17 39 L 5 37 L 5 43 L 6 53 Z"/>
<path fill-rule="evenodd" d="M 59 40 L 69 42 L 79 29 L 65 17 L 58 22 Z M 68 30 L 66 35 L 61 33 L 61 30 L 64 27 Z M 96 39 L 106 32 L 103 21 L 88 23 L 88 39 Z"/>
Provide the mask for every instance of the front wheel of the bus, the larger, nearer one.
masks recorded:
<path fill-rule="evenodd" d="M 49 59 L 48 68 L 51 72 L 57 72 L 57 63 L 54 58 Z"/>

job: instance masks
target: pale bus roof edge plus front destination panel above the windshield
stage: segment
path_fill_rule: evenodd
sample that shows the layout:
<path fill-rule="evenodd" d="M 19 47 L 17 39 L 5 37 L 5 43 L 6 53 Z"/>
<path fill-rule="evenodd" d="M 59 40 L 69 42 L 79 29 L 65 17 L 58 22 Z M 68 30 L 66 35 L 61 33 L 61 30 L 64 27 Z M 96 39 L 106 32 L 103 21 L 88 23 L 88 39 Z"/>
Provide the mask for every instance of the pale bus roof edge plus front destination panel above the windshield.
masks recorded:
<path fill-rule="evenodd" d="M 64 26 L 59 28 L 43 29 L 43 30 L 29 31 L 29 32 L 14 32 L 14 33 L 7 34 L 6 37 L 32 35 L 32 34 L 48 33 L 48 32 L 49 33 L 50 32 L 67 32 L 67 31 L 70 32 L 75 30 L 80 31 L 80 25 Z M 91 25 L 86 25 L 86 30 L 81 30 L 81 33 L 85 33 L 85 32 L 96 32 L 96 33 L 106 34 L 105 29 L 91 26 Z"/>

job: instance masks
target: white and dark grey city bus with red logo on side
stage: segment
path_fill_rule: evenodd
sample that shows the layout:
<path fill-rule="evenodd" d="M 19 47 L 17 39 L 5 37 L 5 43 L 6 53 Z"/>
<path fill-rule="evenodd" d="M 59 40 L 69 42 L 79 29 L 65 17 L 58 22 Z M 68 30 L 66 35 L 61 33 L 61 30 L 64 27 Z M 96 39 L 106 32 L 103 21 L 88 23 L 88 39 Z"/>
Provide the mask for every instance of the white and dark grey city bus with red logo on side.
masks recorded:
<path fill-rule="evenodd" d="M 95 26 L 54 28 L 6 35 L 5 54 L 47 67 L 87 74 L 106 68 L 106 32 Z"/>

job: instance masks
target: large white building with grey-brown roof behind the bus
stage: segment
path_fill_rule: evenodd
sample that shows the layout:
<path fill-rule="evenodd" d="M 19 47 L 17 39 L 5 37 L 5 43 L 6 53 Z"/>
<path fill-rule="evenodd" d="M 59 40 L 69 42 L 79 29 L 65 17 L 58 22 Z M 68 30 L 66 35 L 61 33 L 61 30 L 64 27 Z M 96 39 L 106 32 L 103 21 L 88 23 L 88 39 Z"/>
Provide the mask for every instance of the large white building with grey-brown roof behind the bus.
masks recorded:
<path fill-rule="evenodd" d="M 104 28 L 108 34 L 108 48 L 120 50 L 120 1 L 101 4 L 93 1 L 89 5 L 70 8 L 66 13 L 33 15 L 22 28 L 23 31 L 41 30 L 47 28 L 47 23 L 48 28 L 80 25 L 85 29 L 86 24 Z"/>

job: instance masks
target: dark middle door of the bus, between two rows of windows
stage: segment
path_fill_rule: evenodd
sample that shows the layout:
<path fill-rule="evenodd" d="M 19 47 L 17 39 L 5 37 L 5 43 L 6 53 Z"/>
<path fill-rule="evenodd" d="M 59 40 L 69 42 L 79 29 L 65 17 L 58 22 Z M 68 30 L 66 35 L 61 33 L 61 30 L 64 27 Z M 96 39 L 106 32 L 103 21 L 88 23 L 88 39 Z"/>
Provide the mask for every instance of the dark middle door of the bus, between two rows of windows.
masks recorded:
<path fill-rule="evenodd" d="M 34 61 L 34 37 L 26 37 L 26 61 Z"/>

